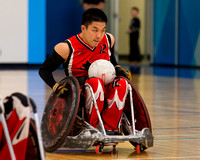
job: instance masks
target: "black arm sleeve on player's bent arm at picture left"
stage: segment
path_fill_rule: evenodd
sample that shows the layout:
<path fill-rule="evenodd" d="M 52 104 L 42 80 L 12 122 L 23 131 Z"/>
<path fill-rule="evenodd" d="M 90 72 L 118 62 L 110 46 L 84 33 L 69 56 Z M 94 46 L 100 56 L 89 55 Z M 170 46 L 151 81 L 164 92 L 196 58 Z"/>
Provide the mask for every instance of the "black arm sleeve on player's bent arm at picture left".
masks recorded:
<path fill-rule="evenodd" d="M 65 60 L 54 50 L 40 67 L 39 75 L 49 87 L 53 88 L 56 83 L 52 72 L 64 63 L 64 61 Z"/>

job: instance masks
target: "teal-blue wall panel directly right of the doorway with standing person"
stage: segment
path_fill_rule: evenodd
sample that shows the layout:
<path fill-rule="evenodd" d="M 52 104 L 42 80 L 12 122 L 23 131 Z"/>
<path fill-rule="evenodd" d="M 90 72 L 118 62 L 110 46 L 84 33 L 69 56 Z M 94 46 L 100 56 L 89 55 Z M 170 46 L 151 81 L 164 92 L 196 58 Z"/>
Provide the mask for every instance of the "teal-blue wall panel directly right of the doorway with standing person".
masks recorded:
<path fill-rule="evenodd" d="M 175 1 L 155 0 L 154 63 L 175 63 Z"/>

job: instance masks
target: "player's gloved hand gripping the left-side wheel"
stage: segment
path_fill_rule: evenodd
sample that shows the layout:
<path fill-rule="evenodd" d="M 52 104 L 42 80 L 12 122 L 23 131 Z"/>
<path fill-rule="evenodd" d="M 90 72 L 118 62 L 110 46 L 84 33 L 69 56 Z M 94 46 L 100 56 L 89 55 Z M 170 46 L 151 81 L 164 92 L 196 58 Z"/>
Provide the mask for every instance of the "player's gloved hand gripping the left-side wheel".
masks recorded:
<path fill-rule="evenodd" d="M 54 92 L 56 93 L 57 97 L 64 98 L 68 94 L 68 89 L 66 88 L 66 83 L 58 84 L 56 83 L 53 87 Z"/>

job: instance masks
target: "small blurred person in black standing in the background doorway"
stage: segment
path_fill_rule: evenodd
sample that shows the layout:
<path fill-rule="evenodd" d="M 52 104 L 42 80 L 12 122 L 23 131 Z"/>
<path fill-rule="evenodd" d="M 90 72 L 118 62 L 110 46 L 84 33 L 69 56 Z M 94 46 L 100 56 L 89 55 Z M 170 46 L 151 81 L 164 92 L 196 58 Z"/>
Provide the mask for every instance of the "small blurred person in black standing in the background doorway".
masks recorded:
<path fill-rule="evenodd" d="M 129 61 L 130 62 L 140 62 L 140 49 L 138 45 L 139 39 L 139 30 L 140 30 L 140 20 L 138 18 L 139 9 L 137 7 L 131 8 L 131 23 L 127 33 L 130 36 L 130 55 Z"/>

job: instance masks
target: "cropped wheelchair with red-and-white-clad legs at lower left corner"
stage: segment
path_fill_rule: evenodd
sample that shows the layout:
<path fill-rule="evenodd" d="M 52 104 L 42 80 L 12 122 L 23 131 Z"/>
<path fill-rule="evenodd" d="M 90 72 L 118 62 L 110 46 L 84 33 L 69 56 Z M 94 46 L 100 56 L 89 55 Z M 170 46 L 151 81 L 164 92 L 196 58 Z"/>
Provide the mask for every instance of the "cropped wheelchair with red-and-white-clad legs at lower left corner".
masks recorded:
<path fill-rule="evenodd" d="M 19 92 L 0 98 L 0 157 L 45 159 L 37 107 L 30 97 Z"/>

